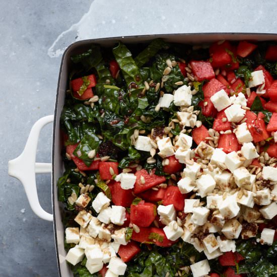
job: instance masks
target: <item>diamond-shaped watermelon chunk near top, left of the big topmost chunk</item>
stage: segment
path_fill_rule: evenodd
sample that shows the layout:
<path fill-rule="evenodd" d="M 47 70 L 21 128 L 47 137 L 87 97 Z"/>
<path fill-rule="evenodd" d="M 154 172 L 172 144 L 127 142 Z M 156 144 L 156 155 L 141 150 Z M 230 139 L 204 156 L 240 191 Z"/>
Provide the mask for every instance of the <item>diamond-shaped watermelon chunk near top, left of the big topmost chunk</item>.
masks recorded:
<path fill-rule="evenodd" d="M 215 72 L 210 61 L 193 60 L 190 63 L 196 81 L 204 81 L 215 78 Z"/>

